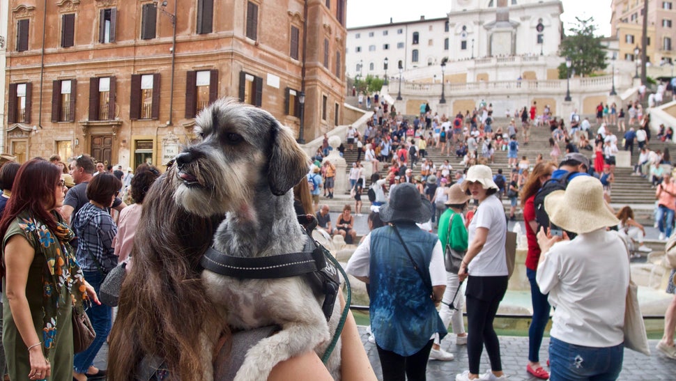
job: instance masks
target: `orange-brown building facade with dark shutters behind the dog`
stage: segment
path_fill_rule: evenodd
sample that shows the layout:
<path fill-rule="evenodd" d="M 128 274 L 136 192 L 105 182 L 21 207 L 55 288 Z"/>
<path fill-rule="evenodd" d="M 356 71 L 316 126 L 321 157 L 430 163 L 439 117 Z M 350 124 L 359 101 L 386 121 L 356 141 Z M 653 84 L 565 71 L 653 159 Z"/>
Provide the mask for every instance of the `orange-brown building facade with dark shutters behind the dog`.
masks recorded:
<path fill-rule="evenodd" d="M 345 4 L 10 0 L 5 150 L 161 165 L 226 96 L 314 139 L 342 120 Z"/>

